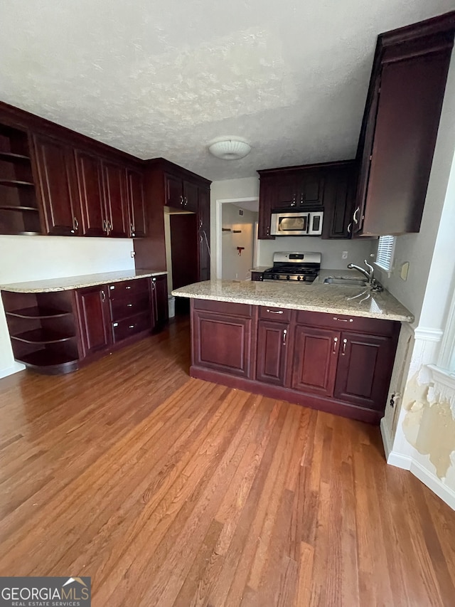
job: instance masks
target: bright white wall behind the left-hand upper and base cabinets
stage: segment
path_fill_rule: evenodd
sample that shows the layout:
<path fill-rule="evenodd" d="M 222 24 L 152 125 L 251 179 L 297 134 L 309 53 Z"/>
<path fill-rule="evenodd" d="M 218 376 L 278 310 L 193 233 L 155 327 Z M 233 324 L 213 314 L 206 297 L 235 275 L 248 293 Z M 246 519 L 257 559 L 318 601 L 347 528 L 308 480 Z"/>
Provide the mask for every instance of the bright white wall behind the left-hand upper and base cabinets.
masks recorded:
<path fill-rule="evenodd" d="M 0 236 L 0 285 L 99 272 L 133 270 L 129 238 Z M 0 302 L 0 377 L 23 369 L 14 362 Z"/>

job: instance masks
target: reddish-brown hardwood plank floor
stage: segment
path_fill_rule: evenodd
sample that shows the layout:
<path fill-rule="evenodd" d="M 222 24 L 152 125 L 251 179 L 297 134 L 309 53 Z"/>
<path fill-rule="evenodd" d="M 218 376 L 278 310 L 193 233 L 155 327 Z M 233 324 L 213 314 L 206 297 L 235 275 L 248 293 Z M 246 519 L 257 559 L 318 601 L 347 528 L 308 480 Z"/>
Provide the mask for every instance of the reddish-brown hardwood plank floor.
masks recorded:
<path fill-rule="evenodd" d="M 377 427 L 190 379 L 188 322 L 0 380 L 0 575 L 92 604 L 449 606 L 455 512 Z"/>

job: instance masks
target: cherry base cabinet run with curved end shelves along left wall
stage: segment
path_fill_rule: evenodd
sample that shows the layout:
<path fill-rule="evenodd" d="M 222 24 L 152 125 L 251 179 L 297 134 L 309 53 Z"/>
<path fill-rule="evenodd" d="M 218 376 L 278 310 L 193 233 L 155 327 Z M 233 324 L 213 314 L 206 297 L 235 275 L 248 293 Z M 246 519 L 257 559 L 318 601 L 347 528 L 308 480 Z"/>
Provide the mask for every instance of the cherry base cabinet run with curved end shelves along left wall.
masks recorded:
<path fill-rule="evenodd" d="M 168 320 L 166 275 L 1 297 L 14 358 L 43 374 L 75 371 Z"/>

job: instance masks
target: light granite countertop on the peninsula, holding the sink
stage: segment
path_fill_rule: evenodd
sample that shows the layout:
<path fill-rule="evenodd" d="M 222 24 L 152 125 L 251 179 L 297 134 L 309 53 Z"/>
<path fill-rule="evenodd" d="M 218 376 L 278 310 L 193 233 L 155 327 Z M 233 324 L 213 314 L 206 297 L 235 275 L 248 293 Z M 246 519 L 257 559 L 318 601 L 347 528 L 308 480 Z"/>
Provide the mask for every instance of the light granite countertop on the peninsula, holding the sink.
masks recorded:
<path fill-rule="evenodd" d="M 354 270 L 355 272 L 355 270 Z M 240 280 L 205 280 L 173 290 L 172 295 L 200 300 L 284 307 L 291 310 L 328 312 L 412 322 L 414 317 L 386 290 L 370 292 L 364 287 L 324 285 L 326 276 L 353 276 L 349 270 L 321 270 L 319 279 L 309 285 L 301 283 L 253 282 Z"/>

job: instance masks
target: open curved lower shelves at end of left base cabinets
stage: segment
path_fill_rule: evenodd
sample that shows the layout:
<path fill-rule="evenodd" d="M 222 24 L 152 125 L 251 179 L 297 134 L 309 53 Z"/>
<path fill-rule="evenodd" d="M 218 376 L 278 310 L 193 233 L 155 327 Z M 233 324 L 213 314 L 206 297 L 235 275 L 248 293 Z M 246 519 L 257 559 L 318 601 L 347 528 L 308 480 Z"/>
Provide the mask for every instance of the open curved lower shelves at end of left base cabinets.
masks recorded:
<path fill-rule="evenodd" d="M 79 338 L 72 290 L 48 293 L 2 291 L 14 358 L 53 375 L 79 367 Z"/>

